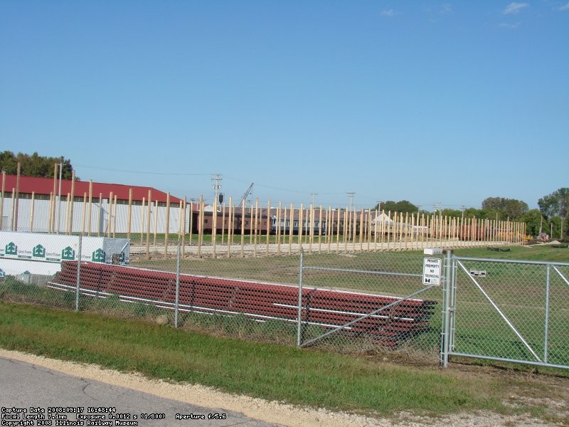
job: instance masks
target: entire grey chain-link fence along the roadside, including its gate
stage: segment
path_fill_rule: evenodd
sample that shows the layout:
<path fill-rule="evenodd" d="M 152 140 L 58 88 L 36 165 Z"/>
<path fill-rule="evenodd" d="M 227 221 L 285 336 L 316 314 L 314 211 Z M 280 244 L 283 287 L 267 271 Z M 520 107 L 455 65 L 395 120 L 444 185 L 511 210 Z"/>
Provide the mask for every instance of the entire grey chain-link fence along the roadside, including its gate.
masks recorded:
<path fill-rule="evenodd" d="M 569 366 L 569 264 L 419 252 L 198 257 L 127 239 L 0 232 L 0 299 L 184 330 L 436 364 L 469 355 Z M 443 258 L 444 255 L 434 255 Z"/>

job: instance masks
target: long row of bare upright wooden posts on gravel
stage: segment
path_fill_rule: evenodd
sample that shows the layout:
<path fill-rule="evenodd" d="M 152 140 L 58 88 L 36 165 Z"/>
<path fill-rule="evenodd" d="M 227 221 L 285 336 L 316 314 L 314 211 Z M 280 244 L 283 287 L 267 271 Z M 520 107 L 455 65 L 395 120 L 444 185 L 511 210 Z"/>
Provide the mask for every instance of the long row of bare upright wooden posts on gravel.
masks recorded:
<path fill-rule="evenodd" d="M 19 171 L 18 171 L 19 172 Z M 57 172 L 57 165 L 55 166 L 54 176 Z M 19 174 L 18 174 L 19 176 Z M 67 203 L 65 204 L 65 230 L 63 233 L 73 233 L 73 194 L 74 192 L 74 178 L 75 173 L 73 172 L 73 179 L 71 184 L 71 193 L 67 194 Z M 1 188 L 1 200 L 0 200 L 0 218 L 3 214 L 4 208 L 4 191 L 5 191 L 6 174 L 3 172 L 2 188 Z M 50 194 L 49 212 L 48 212 L 48 232 L 59 233 L 60 224 L 60 195 L 57 194 L 56 187 L 57 179 L 54 178 L 53 192 Z M 30 214 L 30 231 L 33 231 L 33 214 L 34 214 L 34 196 L 31 196 L 31 214 Z M 83 218 L 82 218 L 82 234 L 87 234 L 91 236 L 91 214 L 92 214 L 92 181 L 89 185 L 89 194 L 85 193 L 83 195 Z M 102 202 L 102 194 L 99 194 L 99 201 Z M 109 195 L 109 214 L 110 221 L 107 223 L 107 228 L 102 232 L 103 236 L 115 236 L 117 230 L 117 196 L 112 194 Z M 127 211 L 127 238 L 131 238 L 131 226 L 132 226 L 132 189 L 129 189 L 129 201 L 128 201 L 128 211 Z M 18 188 L 12 190 L 12 221 L 11 229 L 18 230 Z M 153 201 L 151 200 L 151 190 L 148 192 L 148 199 L 142 199 L 141 206 L 141 223 L 140 223 L 140 246 L 144 246 L 146 243 L 147 255 L 150 253 L 150 235 L 151 235 L 151 206 L 153 206 Z M 157 208 L 158 202 L 154 201 L 155 215 L 154 215 L 154 246 L 156 246 L 156 231 L 158 228 L 157 224 Z M 182 252 L 185 255 L 186 251 L 186 231 L 189 233 L 190 242 L 193 241 L 193 233 L 197 234 L 197 255 L 202 255 L 203 247 L 203 235 L 204 235 L 204 220 L 205 220 L 205 204 L 203 201 L 203 196 L 200 196 L 198 201 L 198 209 L 194 210 L 193 204 L 191 204 L 191 209 L 189 212 L 189 224 L 186 226 L 186 209 L 187 202 L 186 198 L 179 203 L 179 230 L 178 238 L 182 243 Z M 146 209 L 146 218 L 144 215 Z M 525 236 L 526 228 L 524 223 L 513 222 L 513 221 L 497 221 L 489 219 L 477 219 L 477 218 L 454 218 L 454 217 L 442 217 L 436 214 L 421 216 L 415 214 L 400 214 L 398 212 L 393 213 L 393 218 L 391 218 L 391 212 L 387 213 L 388 218 L 391 222 L 377 221 L 378 218 L 385 218 L 385 212 L 381 213 L 378 210 L 371 209 L 361 209 L 352 211 L 349 209 L 332 209 L 331 206 L 328 209 L 323 209 L 322 206 L 318 208 L 310 205 L 304 208 L 302 204 L 299 209 L 294 209 L 293 204 L 289 205 L 289 208 L 283 207 L 282 203 L 279 203 L 276 209 L 271 210 L 270 201 L 267 201 L 267 208 L 265 214 L 266 227 L 262 228 L 262 208 L 260 209 L 259 200 L 255 201 L 254 206 L 246 209 L 245 204 L 240 204 L 236 206 L 233 204 L 233 199 L 229 198 L 228 208 L 225 209 L 223 206 L 221 213 L 221 245 L 226 246 L 227 255 L 230 256 L 231 248 L 235 245 L 240 245 L 240 255 L 245 254 L 245 218 L 248 216 L 250 219 L 251 226 L 248 232 L 248 243 L 252 246 L 253 255 L 257 255 L 259 251 L 259 246 L 261 238 L 265 237 L 265 253 L 275 252 L 276 253 L 292 253 L 293 252 L 293 241 L 296 243 L 306 243 L 308 245 L 309 252 L 317 250 L 318 252 L 326 251 L 348 251 L 351 246 L 351 251 L 378 251 L 378 250 L 390 250 L 390 249 L 418 249 L 425 246 L 475 246 L 477 242 L 488 242 L 488 241 L 506 241 L 508 243 L 522 243 L 523 236 Z M 170 220 L 170 194 L 166 196 L 166 224 L 164 227 L 164 255 L 168 254 L 169 245 L 169 220 Z M 240 212 L 239 212 L 240 211 Z M 218 212 L 218 203 L 214 201 L 213 204 L 213 223 L 211 226 L 211 237 L 212 237 L 212 254 L 213 256 L 218 255 L 218 218 L 216 214 Z M 274 214 L 272 214 L 274 212 Z M 235 241 L 235 218 L 240 214 L 241 217 L 241 227 L 240 227 L 240 241 Z M 193 230 L 193 217 L 198 215 L 198 230 Z M 225 216 L 227 215 L 227 221 Z M 271 238 L 271 216 L 275 216 L 276 227 L 275 227 L 275 237 Z M 373 221 L 376 219 L 376 221 Z M 55 221 L 57 220 L 58 225 L 55 226 Z M 101 235 L 101 215 L 99 215 L 99 223 L 97 226 L 97 236 Z M 289 222 L 289 229 L 283 229 L 282 223 L 287 224 Z M 294 221 L 298 221 L 298 236 L 293 238 L 293 225 Z M 87 228 L 85 227 L 85 222 L 88 223 Z M 227 227 L 225 223 L 227 222 Z M 322 228 L 322 224 L 326 223 L 326 228 Z M 316 225 L 318 224 L 318 226 Z M 304 233 L 303 228 L 307 228 L 307 233 Z M 265 233 L 265 236 L 263 236 Z M 466 233 L 466 235 L 465 235 Z M 225 236 L 227 234 L 227 236 Z M 144 236 L 146 241 L 144 242 Z M 286 242 L 288 238 L 288 242 Z M 461 239 L 463 241 L 468 241 L 464 245 L 458 245 L 456 242 Z M 226 240 L 225 240 L 226 239 Z M 274 241 L 276 243 L 276 249 L 270 250 L 270 243 Z M 288 248 L 282 249 L 282 245 L 288 243 Z M 357 244 L 356 244 L 357 243 Z M 324 250 L 323 250 L 323 247 Z M 316 248 L 314 247 L 316 246 Z M 334 248 L 335 246 L 335 248 Z M 224 249 L 225 251 L 225 249 Z M 296 251 L 296 249 L 295 249 Z M 152 251 L 153 253 L 156 251 Z"/>

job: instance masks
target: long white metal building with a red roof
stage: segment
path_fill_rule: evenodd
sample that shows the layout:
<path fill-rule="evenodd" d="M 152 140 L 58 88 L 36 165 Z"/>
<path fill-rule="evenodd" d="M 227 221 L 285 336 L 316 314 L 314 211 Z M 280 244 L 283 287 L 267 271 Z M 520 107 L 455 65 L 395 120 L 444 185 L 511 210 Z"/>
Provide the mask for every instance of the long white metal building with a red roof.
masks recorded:
<path fill-rule="evenodd" d="M 1 230 L 114 236 L 188 223 L 182 199 L 147 186 L 2 174 L 0 188 Z"/>

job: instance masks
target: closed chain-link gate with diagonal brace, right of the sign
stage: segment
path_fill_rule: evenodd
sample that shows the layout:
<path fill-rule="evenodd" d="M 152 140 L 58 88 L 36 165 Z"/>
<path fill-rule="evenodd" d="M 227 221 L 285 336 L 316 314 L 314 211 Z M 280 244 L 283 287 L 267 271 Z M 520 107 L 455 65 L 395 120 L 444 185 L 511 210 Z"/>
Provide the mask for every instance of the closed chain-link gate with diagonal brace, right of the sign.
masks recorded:
<path fill-rule="evenodd" d="M 449 356 L 569 369 L 569 263 L 452 256 Z"/>

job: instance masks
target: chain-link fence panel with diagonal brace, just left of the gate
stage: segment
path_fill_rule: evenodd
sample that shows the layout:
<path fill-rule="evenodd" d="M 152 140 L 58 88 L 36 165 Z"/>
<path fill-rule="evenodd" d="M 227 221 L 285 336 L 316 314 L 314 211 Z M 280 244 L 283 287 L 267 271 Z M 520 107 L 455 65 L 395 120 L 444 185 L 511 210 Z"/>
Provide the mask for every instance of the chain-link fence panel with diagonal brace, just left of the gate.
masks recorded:
<path fill-rule="evenodd" d="M 365 259 L 352 259 L 346 268 L 326 267 L 325 258 L 318 255 L 309 259 L 320 265 L 308 265 L 306 258 L 301 254 L 299 347 L 405 349 L 436 359 L 441 290 L 422 284 L 422 256 L 385 254 L 367 264 Z"/>

